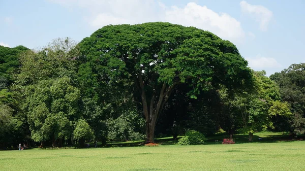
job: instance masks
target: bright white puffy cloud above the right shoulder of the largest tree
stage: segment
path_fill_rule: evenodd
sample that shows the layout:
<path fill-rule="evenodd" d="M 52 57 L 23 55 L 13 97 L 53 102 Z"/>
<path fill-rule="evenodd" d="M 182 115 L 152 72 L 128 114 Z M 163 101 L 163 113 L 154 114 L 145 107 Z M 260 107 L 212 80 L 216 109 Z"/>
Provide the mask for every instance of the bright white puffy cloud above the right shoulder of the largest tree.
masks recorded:
<path fill-rule="evenodd" d="M 165 20 L 211 31 L 221 38 L 237 41 L 245 37 L 240 22 L 226 13 L 216 13 L 206 6 L 188 3 L 184 8 L 171 7 L 165 11 Z"/>

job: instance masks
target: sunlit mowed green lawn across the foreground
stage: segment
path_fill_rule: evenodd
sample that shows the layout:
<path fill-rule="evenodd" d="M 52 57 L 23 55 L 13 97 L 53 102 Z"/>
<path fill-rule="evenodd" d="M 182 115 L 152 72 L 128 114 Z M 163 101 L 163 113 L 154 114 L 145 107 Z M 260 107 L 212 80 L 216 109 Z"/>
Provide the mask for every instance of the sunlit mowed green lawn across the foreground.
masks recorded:
<path fill-rule="evenodd" d="M 0 170 L 305 170 L 305 142 L 0 151 Z"/>

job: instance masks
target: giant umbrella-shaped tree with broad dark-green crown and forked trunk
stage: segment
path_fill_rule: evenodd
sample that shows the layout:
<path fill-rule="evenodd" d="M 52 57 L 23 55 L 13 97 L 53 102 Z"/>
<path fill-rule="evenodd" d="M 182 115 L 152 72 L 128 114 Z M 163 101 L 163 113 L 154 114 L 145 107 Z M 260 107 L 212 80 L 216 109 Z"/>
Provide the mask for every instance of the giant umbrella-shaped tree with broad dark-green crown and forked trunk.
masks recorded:
<path fill-rule="evenodd" d="M 137 88 L 146 120 L 148 142 L 154 142 L 157 119 L 179 84 L 202 90 L 223 84 L 237 88 L 252 75 L 237 48 L 211 32 L 170 23 L 109 25 L 79 44 L 81 60 L 115 86 L 130 80 Z"/>

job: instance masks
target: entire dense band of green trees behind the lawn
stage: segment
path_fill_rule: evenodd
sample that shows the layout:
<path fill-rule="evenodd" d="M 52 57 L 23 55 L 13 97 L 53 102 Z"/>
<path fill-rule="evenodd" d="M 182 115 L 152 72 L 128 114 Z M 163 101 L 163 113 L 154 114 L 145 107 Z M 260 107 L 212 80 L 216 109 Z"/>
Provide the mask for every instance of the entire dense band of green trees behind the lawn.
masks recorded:
<path fill-rule="evenodd" d="M 265 76 L 214 34 L 170 23 L 105 26 L 80 43 L 0 46 L 0 146 L 154 142 L 305 130 L 304 64 Z"/>

